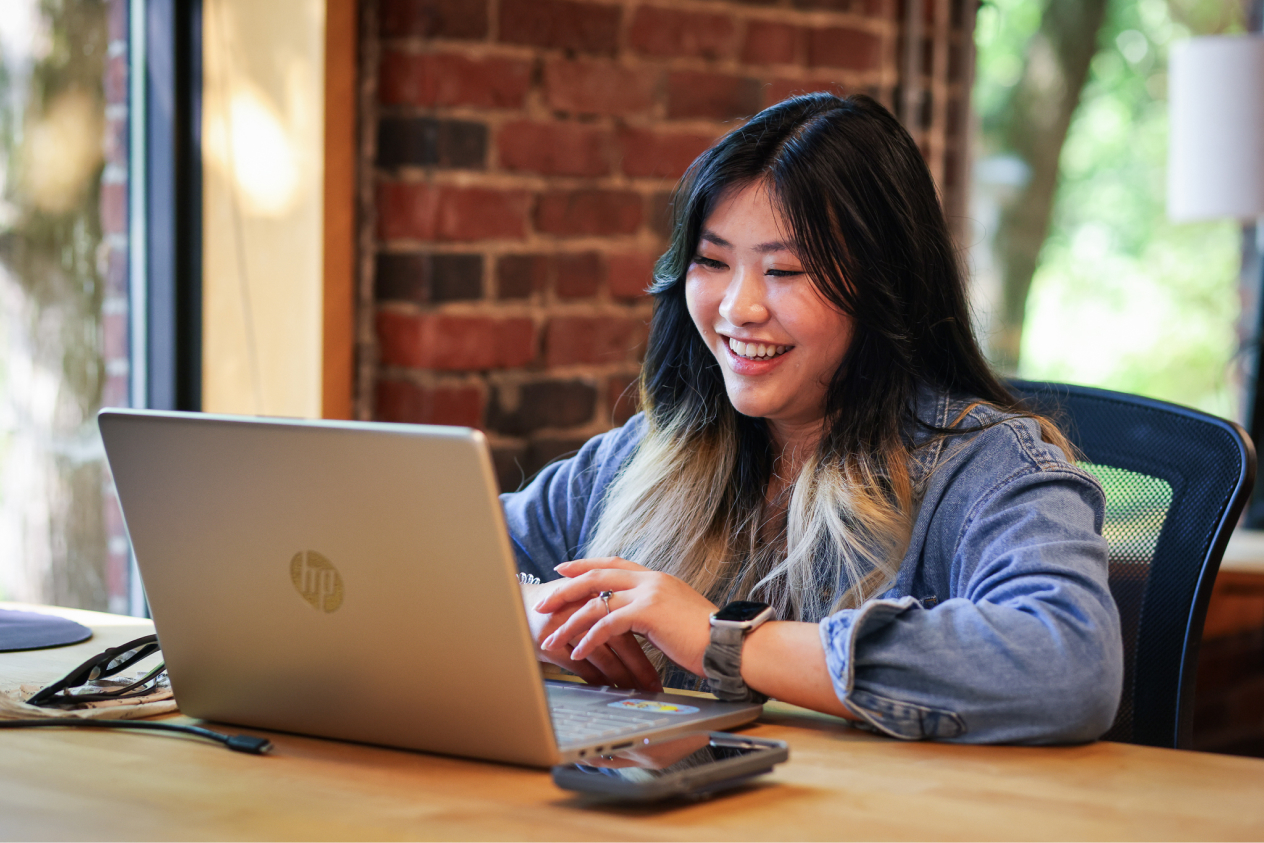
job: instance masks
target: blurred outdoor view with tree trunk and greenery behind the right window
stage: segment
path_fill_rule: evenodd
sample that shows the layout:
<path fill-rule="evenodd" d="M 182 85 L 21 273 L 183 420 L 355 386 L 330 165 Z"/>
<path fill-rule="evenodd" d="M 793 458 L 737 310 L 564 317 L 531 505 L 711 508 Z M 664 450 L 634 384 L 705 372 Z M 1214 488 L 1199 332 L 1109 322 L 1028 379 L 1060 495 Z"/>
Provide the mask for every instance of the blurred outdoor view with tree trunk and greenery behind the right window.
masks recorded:
<path fill-rule="evenodd" d="M 1243 420 L 1243 230 L 1165 212 L 1168 57 L 1241 33 L 1224 0 L 990 0 L 972 105 L 971 257 L 1004 372 Z"/>

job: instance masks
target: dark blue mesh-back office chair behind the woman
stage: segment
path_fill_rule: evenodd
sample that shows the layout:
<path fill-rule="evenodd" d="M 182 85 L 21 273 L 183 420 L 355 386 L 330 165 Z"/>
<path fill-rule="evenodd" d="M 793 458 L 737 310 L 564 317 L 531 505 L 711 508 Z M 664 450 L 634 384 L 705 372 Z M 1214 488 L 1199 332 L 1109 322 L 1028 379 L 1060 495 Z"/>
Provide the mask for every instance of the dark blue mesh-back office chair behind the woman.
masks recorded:
<path fill-rule="evenodd" d="M 1255 478 L 1234 422 L 1106 389 L 1014 380 L 1079 449 L 1106 490 L 1110 589 L 1124 629 L 1124 696 L 1103 738 L 1188 748 L 1207 600 Z"/>

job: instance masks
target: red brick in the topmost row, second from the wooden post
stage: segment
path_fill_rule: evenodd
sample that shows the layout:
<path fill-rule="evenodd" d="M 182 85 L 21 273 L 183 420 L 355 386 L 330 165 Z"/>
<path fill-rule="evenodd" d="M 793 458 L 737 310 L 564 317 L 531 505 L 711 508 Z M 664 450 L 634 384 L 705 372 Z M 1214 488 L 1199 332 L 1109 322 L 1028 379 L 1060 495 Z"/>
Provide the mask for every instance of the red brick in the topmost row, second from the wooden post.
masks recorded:
<path fill-rule="evenodd" d="M 622 15 L 619 6 L 595 3 L 501 0 L 501 40 L 611 56 Z"/>

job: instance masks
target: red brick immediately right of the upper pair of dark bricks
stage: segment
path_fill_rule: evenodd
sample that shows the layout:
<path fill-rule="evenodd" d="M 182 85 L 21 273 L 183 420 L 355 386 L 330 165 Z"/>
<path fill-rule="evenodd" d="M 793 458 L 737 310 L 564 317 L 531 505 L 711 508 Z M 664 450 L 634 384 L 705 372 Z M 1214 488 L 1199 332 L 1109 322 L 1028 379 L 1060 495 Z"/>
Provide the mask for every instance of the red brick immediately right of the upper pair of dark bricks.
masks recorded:
<path fill-rule="evenodd" d="M 545 176 L 611 172 L 609 133 L 569 123 L 520 120 L 501 126 L 501 166 Z"/>

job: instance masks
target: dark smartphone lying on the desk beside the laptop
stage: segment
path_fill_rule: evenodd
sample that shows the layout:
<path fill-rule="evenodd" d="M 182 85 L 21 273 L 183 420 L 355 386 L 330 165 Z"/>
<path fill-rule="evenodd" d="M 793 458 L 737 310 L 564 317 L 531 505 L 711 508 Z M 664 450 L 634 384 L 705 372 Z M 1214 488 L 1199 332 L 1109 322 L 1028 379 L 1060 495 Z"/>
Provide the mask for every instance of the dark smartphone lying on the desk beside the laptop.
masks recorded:
<path fill-rule="evenodd" d="M 772 765 L 789 757 L 790 747 L 782 741 L 695 732 L 560 765 L 554 767 L 554 784 L 627 801 L 702 796 L 771 772 Z"/>

